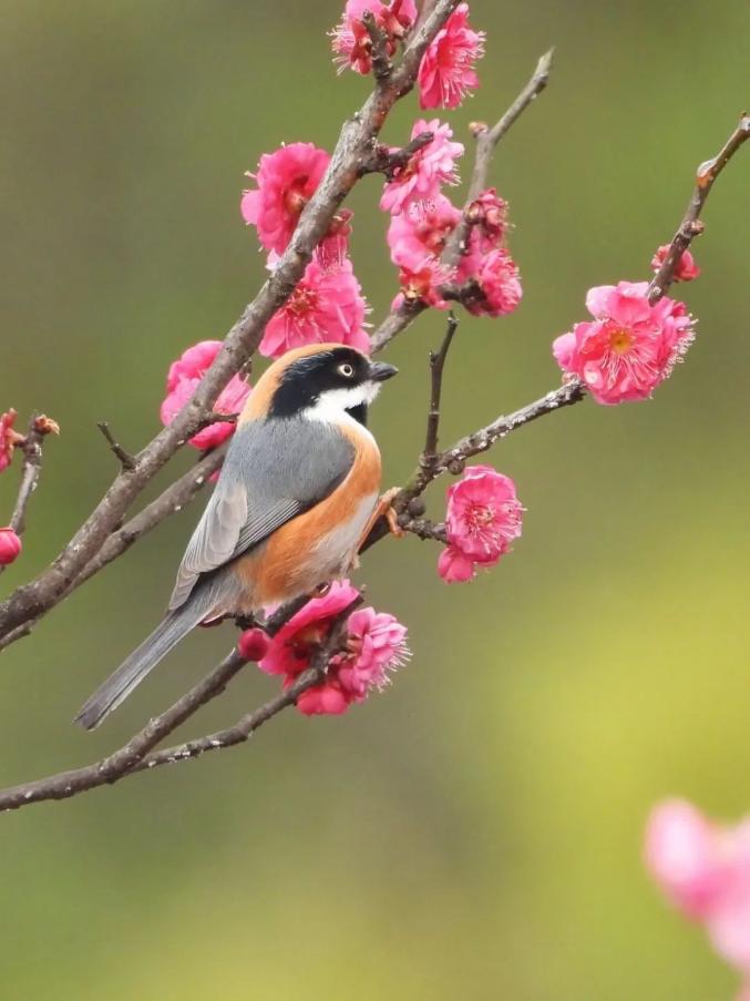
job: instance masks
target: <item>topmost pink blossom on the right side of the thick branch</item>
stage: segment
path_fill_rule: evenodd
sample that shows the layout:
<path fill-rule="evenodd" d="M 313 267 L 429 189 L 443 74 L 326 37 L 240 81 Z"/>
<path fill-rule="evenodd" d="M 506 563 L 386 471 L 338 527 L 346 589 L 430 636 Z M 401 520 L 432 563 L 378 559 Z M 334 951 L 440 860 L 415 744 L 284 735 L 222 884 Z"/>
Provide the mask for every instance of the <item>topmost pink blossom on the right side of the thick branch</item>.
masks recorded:
<path fill-rule="evenodd" d="M 469 4 L 460 3 L 422 57 L 420 108 L 458 108 L 480 84 L 474 63 L 483 53 L 484 32 L 469 27 Z"/>

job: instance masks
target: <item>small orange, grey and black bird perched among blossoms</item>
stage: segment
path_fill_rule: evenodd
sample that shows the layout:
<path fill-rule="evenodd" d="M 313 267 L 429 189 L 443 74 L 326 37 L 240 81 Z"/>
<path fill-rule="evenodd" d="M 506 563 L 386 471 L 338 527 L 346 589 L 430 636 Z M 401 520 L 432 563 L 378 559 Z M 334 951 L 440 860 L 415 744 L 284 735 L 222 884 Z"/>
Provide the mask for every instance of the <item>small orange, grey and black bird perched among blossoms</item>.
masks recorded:
<path fill-rule="evenodd" d="M 289 351 L 250 394 L 166 617 L 75 717 L 95 726 L 192 629 L 346 574 L 386 504 L 368 406 L 398 369 L 335 344 Z"/>

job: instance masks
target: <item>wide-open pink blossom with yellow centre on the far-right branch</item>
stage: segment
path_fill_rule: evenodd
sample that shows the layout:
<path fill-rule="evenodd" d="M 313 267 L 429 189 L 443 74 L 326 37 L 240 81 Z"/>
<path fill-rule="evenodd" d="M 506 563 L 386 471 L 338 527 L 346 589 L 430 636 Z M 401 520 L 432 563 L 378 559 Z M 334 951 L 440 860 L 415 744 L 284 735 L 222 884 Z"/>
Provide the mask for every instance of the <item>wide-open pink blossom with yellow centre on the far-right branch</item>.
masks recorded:
<path fill-rule="evenodd" d="M 558 337 L 553 354 L 599 404 L 648 398 L 694 339 L 685 305 L 667 296 L 651 305 L 646 282 L 592 288 L 586 306 L 594 323 Z"/>

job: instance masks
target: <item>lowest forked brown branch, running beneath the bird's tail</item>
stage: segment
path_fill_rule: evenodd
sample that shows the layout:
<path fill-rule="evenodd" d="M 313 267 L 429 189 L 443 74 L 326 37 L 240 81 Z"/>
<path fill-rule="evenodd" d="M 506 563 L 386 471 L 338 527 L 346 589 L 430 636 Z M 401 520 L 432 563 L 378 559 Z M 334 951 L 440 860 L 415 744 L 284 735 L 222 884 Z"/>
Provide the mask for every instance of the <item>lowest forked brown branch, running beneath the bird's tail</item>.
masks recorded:
<path fill-rule="evenodd" d="M 271 719 L 281 709 L 292 705 L 302 692 L 320 684 L 326 675 L 330 657 L 340 647 L 346 620 L 360 603 L 361 599 L 357 597 L 332 620 L 330 633 L 314 655 L 310 667 L 304 671 L 294 684 L 260 708 L 243 716 L 234 726 L 177 747 L 150 754 L 157 744 L 195 715 L 202 706 L 220 695 L 229 682 L 248 663 L 237 650 L 226 656 L 217 667 L 178 698 L 166 712 L 151 719 L 143 729 L 114 754 L 84 768 L 60 772 L 48 778 L 0 790 L 0 811 L 20 809 L 32 803 L 43 803 L 48 799 L 70 799 L 71 796 L 88 793 L 100 786 L 114 785 L 121 778 L 133 775 L 135 772 L 187 760 L 198 757 L 207 750 L 218 750 L 244 743 L 259 726 Z M 268 632 L 271 635 L 278 632 L 287 617 L 289 617 L 287 612 L 275 616 L 268 625 Z"/>

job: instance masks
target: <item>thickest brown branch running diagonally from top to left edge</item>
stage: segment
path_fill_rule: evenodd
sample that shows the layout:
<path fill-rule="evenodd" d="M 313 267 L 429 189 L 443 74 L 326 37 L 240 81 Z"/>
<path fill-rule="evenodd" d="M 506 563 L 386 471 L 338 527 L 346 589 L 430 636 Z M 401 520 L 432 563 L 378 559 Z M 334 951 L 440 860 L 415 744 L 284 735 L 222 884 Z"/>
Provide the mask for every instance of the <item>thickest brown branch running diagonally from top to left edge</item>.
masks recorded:
<path fill-rule="evenodd" d="M 345 123 L 328 168 L 305 206 L 289 246 L 255 299 L 224 339 L 222 350 L 201 380 L 193 398 L 168 427 L 135 456 L 133 469 L 121 471 L 93 513 L 53 563 L 35 580 L 0 604 L 0 637 L 37 619 L 60 602 L 73 580 L 96 554 L 123 519 L 130 504 L 195 431 L 217 396 L 256 350 L 266 324 L 286 302 L 302 276 L 316 246 L 328 232 L 337 210 L 357 183 L 388 114 L 413 88 L 428 45 L 459 0 L 436 0 L 403 50 L 400 65 L 387 81 L 378 81 L 361 110 Z"/>

